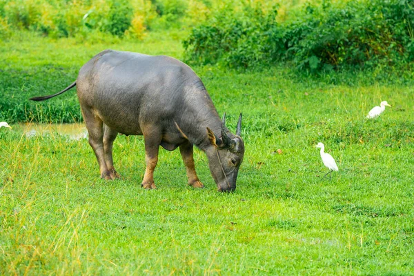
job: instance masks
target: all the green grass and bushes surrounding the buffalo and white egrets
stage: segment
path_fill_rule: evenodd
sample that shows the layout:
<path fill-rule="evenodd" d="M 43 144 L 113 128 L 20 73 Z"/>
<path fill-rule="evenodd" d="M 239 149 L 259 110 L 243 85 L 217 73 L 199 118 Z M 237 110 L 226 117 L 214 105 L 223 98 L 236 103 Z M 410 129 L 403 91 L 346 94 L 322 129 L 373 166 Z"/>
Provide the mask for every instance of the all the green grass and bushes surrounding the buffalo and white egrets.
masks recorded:
<path fill-rule="evenodd" d="M 413 275 L 412 2 L 366 3 L 0 0 L 0 121 L 13 123 L 0 275 Z M 79 123 L 75 90 L 28 98 L 106 48 L 186 59 L 230 129 L 243 112 L 235 193 L 217 193 L 199 150 L 204 190 L 161 150 L 146 191 L 142 137 L 117 138 L 123 178 L 102 181 L 86 139 L 17 124 Z M 367 120 L 382 100 L 393 107 Z"/>

